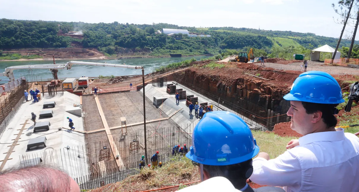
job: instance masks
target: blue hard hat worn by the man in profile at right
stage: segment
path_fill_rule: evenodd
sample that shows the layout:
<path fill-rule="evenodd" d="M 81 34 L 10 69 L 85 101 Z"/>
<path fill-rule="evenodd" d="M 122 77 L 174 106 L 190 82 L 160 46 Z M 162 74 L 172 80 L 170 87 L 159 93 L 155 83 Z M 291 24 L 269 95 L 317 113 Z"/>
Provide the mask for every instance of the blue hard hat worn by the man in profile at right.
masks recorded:
<path fill-rule="evenodd" d="M 295 79 L 290 92 L 283 99 L 320 104 L 344 102 L 339 83 L 328 73 L 308 71 Z"/>

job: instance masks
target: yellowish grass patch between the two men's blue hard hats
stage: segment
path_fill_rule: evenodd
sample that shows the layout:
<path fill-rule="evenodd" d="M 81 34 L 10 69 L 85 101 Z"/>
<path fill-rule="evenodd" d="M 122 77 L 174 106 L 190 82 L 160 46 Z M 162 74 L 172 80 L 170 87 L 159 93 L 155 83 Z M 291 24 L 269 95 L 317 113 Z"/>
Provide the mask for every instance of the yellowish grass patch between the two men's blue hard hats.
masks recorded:
<path fill-rule="evenodd" d="M 281 137 L 273 132 L 266 133 L 263 131 L 252 131 L 253 137 L 256 139 L 260 152 L 266 152 L 271 159 L 278 157 L 286 151 L 285 146 L 296 137 Z"/>

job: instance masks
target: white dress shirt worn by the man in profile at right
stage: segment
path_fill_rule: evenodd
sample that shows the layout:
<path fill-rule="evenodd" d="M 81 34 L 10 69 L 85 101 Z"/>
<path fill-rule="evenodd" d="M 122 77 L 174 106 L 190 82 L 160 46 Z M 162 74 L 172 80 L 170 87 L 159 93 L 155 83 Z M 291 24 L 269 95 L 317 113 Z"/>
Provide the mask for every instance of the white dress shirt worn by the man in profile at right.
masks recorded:
<path fill-rule="evenodd" d="M 275 159 L 253 160 L 251 181 L 287 192 L 358 192 L 359 138 L 336 131 L 312 133 Z"/>

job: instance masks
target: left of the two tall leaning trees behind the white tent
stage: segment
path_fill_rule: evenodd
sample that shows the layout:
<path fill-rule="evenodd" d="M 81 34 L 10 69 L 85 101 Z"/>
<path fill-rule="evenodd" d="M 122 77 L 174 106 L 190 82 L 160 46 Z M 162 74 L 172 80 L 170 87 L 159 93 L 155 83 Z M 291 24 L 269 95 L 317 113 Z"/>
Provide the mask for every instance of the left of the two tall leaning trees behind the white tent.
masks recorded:
<path fill-rule="evenodd" d="M 341 38 L 343 36 L 346 23 L 348 22 L 348 19 L 349 19 L 349 16 L 350 16 L 351 8 L 353 7 L 353 3 L 354 3 L 354 0 L 340 0 L 338 2 L 338 4 L 339 4 L 340 10 L 341 10 L 341 13 L 339 13 L 339 11 L 337 9 L 335 9 L 334 3 L 332 4 L 332 7 L 334 8 L 335 13 L 339 14 L 343 18 L 344 22 L 343 22 L 343 29 L 341 30 L 341 34 L 340 34 L 340 37 L 338 39 L 337 46 L 336 46 L 335 51 L 333 53 L 332 61 L 330 63 L 333 63 L 333 60 L 335 58 L 335 54 L 338 51 L 339 44 L 340 44 Z M 343 8 L 348 9 L 348 11 L 344 10 L 344 13 L 343 13 L 343 11 L 342 11 Z"/>

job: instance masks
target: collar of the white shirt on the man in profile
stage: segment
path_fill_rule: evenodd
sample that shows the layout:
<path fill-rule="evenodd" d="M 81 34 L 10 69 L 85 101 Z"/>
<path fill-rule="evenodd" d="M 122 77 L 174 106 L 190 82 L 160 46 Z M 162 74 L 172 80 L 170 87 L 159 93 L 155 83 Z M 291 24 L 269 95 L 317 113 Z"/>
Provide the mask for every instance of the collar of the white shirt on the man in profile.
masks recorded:
<path fill-rule="evenodd" d="M 299 138 L 299 145 L 306 145 L 317 141 L 340 141 L 345 139 L 344 129 L 338 128 L 336 131 L 326 131 L 320 133 L 311 133 Z"/>

